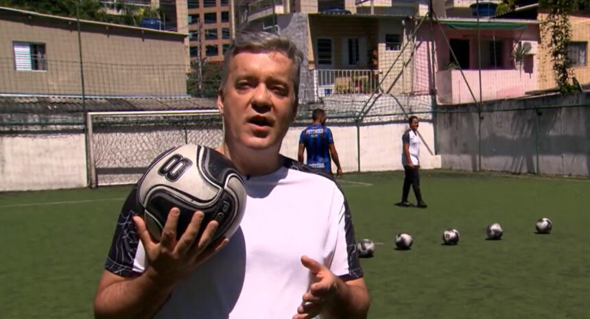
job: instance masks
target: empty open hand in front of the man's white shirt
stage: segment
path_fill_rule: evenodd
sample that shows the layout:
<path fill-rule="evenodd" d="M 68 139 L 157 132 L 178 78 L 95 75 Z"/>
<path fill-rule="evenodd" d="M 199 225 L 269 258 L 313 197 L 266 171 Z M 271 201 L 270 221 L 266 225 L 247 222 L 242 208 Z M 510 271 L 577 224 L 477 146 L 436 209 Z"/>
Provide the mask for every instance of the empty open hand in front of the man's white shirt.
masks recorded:
<path fill-rule="evenodd" d="M 303 294 L 303 303 L 297 308 L 297 314 L 293 319 L 311 319 L 318 316 L 337 294 L 338 279 L 325 265 L 314 259 L 303 256 L 301 263 L 311 272 L 312 283 L 309 290 Z"/>

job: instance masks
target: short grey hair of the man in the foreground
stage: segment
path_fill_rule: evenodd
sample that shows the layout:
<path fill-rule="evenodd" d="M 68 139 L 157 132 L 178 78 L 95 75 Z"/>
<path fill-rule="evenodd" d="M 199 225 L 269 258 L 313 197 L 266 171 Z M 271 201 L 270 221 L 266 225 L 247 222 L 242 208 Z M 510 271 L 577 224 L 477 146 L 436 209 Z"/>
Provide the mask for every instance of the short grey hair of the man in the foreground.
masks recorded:
<path fill-rule="evenodd" d="M 279 51 L 285 54 L 287 58 L 293 61 L 295 66 L 295 74 L 293 75 L 295 103 L 299 101 L 299 72 L 301 68 L 301 61 L 303 60 L 303 54 L 295 43 L 285 36 L 278 34 L 272 34 L 269 32 L 242 32 L 236 34 L 235 39 L 232 41 L 230 47 L 227 49 L 224 55 L 224 62 L 222 65 L 222 79 L 220 84 L 220 90 L 223 91 L 229 73 L 229 63 L 236 54 L 240 52 L 271 52 Z"/>

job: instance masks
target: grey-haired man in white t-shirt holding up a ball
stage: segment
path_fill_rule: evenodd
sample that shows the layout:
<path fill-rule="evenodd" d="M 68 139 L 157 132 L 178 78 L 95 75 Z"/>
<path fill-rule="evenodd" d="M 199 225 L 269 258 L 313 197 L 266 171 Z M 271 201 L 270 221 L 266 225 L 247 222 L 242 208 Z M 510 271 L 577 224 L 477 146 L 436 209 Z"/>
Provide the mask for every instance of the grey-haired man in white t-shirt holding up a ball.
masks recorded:
<path fill-rule="evenodd" d="M 245 176 L 239 230 L 211 242 L 219 225 L 201 232 L 198 211 L 177 237 L 172 209 L 156 242 L 130 196 L 97 289 L 96 318 L 366 318 L 368 292 L 342 191 L 279 154 L 296 115 L 302 57 L 275 34 L 235 39 L 217 98 L 224 119 L 217 151 Z"/>

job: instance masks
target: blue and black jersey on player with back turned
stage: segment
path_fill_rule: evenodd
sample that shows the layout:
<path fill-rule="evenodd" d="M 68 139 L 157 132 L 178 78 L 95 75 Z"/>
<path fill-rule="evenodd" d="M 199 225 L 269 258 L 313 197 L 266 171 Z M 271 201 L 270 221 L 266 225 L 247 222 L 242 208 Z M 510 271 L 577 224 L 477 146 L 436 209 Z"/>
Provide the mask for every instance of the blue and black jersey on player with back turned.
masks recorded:
<path fill-rule="evenodd" d="M 299 143 L 305 145 L 307 165 L 332 172 L 329 145 L 334 143 L 332 131 L 321 124 L 308 126 L 301 132 Z"/>

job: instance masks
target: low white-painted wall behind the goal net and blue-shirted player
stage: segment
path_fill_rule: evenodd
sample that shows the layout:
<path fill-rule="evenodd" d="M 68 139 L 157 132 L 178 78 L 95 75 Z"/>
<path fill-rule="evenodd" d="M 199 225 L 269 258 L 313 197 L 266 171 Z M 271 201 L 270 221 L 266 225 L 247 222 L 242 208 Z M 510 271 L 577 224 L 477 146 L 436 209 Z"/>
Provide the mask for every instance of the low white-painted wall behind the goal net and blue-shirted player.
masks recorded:
<path fill-rule="evenodd" d="M 305 126 L 293 126 L 287 132 L 281 154 L 297 158 L 299 135 Z M 330 126 L 344 172 L 358 170 L 357 128 L 353 124 Z M 402 169 L 401 135 L 405 121 L 369 123 L 359 128 L 360 169 L 362 172 Z M 434 155 L 432 123 L 420 126 L 423 143 L 421 165 L 440 167 Z M 94 156 L 99 185 L 129 184 L 161 152 L 175 145 L 200 143 L 215 147 L 222 142 L 221 128 L 182 130 L 170 126 L 112 128 L 93 134 Z M 85 187 L 86 153 L 84 135 L 31 134 L 0 136 L 0 191 L 25 191 Z"/>

